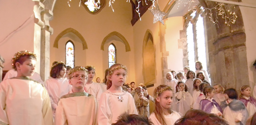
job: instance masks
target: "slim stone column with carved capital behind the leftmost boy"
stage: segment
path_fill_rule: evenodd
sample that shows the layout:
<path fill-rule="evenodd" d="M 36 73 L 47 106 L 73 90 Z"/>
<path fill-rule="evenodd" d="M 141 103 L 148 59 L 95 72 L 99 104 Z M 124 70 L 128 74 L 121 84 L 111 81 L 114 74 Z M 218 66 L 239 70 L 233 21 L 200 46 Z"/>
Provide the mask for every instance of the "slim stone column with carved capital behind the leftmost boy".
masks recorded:
<path fill-rule="evenodd" d="M 41 16 L 45 27 L 41 29 L 40 75 L 44 81 L 50 76 L 50 35 L 53 34 L 53 28 L 50 27 L 49 21 L 53 19 L 53 12 L 45 10 Z"/>

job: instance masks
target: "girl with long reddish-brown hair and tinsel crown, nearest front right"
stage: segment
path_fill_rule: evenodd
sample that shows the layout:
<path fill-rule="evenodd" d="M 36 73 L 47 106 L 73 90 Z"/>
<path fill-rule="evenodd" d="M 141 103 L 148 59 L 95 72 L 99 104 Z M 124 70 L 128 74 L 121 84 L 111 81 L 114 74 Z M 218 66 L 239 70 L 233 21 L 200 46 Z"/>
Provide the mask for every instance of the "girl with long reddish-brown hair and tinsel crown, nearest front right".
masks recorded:
<path fill-rule="evenodd" d="M 154 125 L 174 125 L 182 115 L 171 110 L 173 90 L 170 86 L 159 85 L 154 90 L 155 110 L 149 119 Z"/>

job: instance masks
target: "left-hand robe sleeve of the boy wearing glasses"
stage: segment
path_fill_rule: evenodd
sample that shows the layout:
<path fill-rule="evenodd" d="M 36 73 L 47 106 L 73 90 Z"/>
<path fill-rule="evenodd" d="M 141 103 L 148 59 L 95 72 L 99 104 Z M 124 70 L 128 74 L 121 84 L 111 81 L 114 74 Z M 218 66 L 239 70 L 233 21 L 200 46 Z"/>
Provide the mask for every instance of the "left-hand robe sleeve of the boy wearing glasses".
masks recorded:
<path fill-rule="evenodd" d="M 58 106 L 56 108 L 54 123 L 55 125 L 67 125 L 67 116 L 61 100 L 59 100 Z"/>

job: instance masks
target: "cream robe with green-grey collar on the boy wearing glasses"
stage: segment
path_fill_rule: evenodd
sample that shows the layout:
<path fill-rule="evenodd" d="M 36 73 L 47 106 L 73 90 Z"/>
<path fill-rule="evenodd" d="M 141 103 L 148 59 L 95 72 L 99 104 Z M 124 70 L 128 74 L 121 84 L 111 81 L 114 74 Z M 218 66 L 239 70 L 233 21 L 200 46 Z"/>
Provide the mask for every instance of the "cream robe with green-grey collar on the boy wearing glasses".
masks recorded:
<path fill-rule="evenodd" d="M 55 113 L 55 125 L 96 125 L 97 101 L 86 92 L 75 92 L 62 96 Z"/>

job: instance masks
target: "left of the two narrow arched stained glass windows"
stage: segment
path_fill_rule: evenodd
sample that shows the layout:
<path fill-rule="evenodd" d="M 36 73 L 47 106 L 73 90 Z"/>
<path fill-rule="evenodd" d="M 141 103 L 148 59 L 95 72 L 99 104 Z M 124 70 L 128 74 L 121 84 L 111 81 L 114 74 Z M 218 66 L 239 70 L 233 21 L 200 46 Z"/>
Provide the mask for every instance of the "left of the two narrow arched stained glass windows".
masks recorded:
<path fill-rule="evenodd" d="M 74 64 L 74 44 L 71 41 L 66 43 L 66 66 L 75 66 Z"/>

